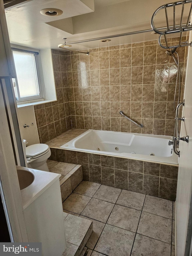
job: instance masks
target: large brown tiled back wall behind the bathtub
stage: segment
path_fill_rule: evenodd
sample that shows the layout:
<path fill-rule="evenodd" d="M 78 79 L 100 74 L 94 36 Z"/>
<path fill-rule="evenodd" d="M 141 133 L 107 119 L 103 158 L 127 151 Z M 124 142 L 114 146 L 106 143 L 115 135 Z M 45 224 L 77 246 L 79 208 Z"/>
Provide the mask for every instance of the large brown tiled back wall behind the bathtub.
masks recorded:
<path fill-rule="evenodd" d="M 182 76 L 185 49 L 178 49 Z M 177 68 L 157 40 L 89 52 L 66 52 L 72 128 L 173 135 Z"/>

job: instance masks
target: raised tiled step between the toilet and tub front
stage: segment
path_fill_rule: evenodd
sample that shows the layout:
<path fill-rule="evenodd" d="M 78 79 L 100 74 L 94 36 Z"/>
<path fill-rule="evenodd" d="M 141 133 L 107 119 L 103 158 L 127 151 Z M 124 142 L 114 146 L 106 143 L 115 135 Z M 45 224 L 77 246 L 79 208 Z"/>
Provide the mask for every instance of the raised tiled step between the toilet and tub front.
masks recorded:
<path fill-rule="evenodd" d="M 63 162 L 47 161 L 49 171 L 61 174 L 60 187 L 62 202 L 82 182 L 82 166 Z"/>

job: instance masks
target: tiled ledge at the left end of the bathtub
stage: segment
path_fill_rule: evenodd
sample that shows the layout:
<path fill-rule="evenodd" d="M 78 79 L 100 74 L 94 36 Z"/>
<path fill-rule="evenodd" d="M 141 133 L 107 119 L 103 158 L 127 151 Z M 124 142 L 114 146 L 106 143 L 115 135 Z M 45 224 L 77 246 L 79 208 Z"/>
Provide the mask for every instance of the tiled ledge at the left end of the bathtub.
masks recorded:
<path fill-rule="evenodd" d="M 71 129 L 69 131 L 66 131 L 66 132 L 60 134 L 59 136 L 55 137 L 52 140 L 47 141 L 46 144 L 49 147 L 60 148 L 60 146 L 64 145 L 65 143 L 67 143 L 70 140 L 73 140 L 74 138 L 76 138 L 80 134 L 84 133 L 85 131 L 87 131 L 87 130 Z"/>

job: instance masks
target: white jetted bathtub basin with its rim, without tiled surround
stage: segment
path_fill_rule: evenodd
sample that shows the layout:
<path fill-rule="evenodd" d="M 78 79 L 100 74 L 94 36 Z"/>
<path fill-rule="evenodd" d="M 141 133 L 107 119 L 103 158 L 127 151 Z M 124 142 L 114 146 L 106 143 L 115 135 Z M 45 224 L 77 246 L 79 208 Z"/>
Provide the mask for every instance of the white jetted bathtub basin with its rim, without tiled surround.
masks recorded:
<path fill-rule="evenodd" d="M 169 140 L 171 136 L 88 130 L 60 148 L 177 165 Z"/>

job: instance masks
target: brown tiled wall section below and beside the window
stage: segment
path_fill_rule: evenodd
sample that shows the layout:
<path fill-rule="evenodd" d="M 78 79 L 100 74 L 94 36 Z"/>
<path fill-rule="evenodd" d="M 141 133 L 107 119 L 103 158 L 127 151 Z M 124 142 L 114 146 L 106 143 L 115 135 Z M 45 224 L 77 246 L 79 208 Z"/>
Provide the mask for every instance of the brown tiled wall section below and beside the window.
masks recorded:
<path fill-rule="evenodd" d="M 57 101 L 34 106 L 40 143 L 71 129 L 65 53 L 52 50 Z"/>

